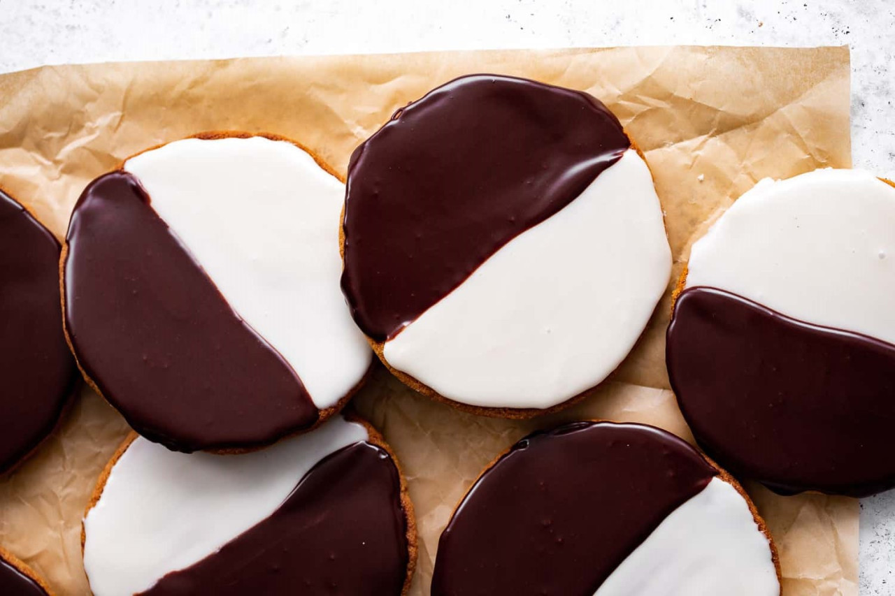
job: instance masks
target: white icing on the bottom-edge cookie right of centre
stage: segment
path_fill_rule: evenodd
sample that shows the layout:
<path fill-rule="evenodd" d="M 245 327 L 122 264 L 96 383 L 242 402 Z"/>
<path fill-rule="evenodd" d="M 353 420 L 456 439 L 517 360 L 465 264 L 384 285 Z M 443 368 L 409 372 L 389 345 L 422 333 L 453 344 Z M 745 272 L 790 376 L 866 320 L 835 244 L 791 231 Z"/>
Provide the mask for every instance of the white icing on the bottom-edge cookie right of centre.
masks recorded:
<path fill-rule="evenodd" d="M 594 596 L 780 596 L 771 545 L 746 500 L 714 478 L 675 509 Z"/>

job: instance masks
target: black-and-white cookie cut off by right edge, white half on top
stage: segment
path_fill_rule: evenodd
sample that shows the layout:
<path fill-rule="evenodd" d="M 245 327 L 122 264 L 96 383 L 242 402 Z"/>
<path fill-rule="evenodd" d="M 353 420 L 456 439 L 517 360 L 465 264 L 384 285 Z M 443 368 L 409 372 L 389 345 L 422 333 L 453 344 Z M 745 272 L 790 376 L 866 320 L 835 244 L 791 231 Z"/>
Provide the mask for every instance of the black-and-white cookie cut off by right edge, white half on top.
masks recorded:
<path fill-rule="evenodd" d="M 895 188 L 857 170 L 763 180 L 693 246 L 671 387 L 705 452 L 791 494 L 895 487 Z"/>

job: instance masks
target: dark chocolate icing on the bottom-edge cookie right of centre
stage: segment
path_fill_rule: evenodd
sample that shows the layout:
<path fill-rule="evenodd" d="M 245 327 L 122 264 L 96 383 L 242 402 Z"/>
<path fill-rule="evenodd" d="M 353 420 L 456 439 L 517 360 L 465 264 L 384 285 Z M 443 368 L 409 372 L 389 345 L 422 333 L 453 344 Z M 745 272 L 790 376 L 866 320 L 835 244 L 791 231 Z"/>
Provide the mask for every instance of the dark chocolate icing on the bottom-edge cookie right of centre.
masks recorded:
<path fill-rule="evenodd" d="M 592 596 L 716 473 L 650 426 L 575 422 L 530 435 L 457 507 L 432 596 Z"/>

